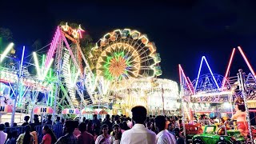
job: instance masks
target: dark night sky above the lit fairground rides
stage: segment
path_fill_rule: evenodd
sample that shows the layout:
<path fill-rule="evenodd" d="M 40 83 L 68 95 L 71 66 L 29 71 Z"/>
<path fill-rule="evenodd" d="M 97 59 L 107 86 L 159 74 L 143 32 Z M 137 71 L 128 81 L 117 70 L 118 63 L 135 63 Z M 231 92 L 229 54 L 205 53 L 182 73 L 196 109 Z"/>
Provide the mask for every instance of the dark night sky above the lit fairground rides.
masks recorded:
<path fill-rule="evenodd" d="M 256 67 L 255 7 L 254 0 L 5 1 L 0 4 L 0 27 L 13 32 L 18 50 L 26 45 L 30 51 L 38 38 L 43 46 L 50 43 L 61 21 L 81 23 L 94 42 L 117 28 L 136 29 L 155 42 L 162 58 L 161 78 L 178 81 L 180 63 L 192 80 L 202 55 L 214 73 L 224 75 L 232 48 L 237 46 L 242 46 Z M 231 74 L 238 68 L 249 72 L 237 53 Z"/>

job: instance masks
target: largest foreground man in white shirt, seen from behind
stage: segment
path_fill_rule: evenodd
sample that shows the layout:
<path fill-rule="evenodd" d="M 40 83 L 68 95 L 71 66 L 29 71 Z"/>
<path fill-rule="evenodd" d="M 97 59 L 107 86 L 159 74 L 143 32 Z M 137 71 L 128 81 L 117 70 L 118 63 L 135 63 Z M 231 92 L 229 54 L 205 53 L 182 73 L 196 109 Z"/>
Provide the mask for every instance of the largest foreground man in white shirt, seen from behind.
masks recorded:
<path fill-rule="evenodd" d="M 156 134 L 143 125 L 146 121 L 146 108 L 135 106 L 131 112 L 135 125 L 122 133 L 121 144 L 155 144 Z"/>

